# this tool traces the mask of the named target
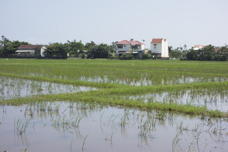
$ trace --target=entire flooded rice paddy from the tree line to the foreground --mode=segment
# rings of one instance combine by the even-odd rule
[[[226,62],[32,59],[0,62],[0,75],[5,76],[0,77],[0,152],[228,151]],[[7,76],[100,89],[89,92],[95,88]],[[142,95],[150,92],[145,91],[147,88],[151,93]],[[70,97],[67,94],[83,91],[87,92]],[[43,94],[55,95],[10,100]],[[139,110],[134,109],[138,105],[135,101],[124,106],[123,97],[130,99],[125,104],[131,100],[166,102],[164,111],[169,111],[169,103],[177,103],[206,106],[225,114],[212,113],[207,117],[207,112],[193,108],[199,110],[196,116],[186,107],[178,111],[178,106],[172,107],[177,113]],[[10,103],[17,106],[7,105]],[[212,118],[216,116],[223,118]]]

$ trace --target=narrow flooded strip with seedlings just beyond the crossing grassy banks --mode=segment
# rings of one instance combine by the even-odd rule
[[[130,86],[150,86],[150,85],[171,85],[171,84],[182,84],[182,83],[192,83],[192,82],[223,82],[228,81],[227,77],[204,77],[204,76],[191,76],[184,75],[180,73],[144,73],[137,72],[120,75],[51,75],[41,74],[41,73],[29,73],[30,76],[40,76],[40,77],[52,77],[55,79],[67,79],[67,80],[80,80],[89,81],[96,83],[114,83],[114,84],[124,84]]]

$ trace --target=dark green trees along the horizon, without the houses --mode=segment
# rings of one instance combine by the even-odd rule
[[[0,40],[0,57],[11,57],[15,54],[20,45],[29,45],[24,41],[11,41],[2,36]],[[116,56],[115,45],[96,44],[93,41],[82,43],[81,41],[67,41],[66,43],[52,43],[47,46],[45,57],[79,57],[79,58],[117,58],[117,59],[155,59],[150,53],[140,52],[138,54],[123,54]],[[170,58],[181,60],[202,60],[202,61],[228,61],[228,46],[215,47],[208,45],[202,49],[169,47]]]

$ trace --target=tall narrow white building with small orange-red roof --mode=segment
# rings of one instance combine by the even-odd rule
[[[152,39],[150,48],[151,48],[151,53],[155,54],[156,56],[159,56],[161,58],[169,57],[168,42],[166,39],[163,39],[163,38]]]

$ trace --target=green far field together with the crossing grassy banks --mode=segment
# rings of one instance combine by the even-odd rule
[[[81,93],[34,95],[0,101],[25,104],[41,101],[83,101],[101,105],[156,109],[189,115],[228,117],[226,112],[176,103],[143,103],[123,96],[182,90],[228,89],[228,62],[155,60],[24,60],[0,59],[0,76],[98,88]],[[83,78],[83,79],[82,79]],[[36,87],[35,87],[36,88]],[[37,88],[42,91],[43,88]],[[158,116],[162,119],[161,116]]]

